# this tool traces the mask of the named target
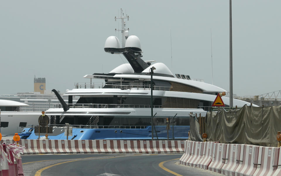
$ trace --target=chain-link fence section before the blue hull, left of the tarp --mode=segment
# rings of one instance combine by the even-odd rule
[[[178,140],[187,139],[189,117],[153,117],[153,139]]]

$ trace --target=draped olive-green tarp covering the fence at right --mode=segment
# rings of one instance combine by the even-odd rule
[[[190,122],[190,139],[198,138],[198,121]],[[281,105],[253,107],[244,105],[240,109],[218,113],[208,112],[205,118],[207,141],[220,143],[254,144],[261,146],[277,146],[276,134],[281,131]],[[194,125],[194,128],[191,127]]]

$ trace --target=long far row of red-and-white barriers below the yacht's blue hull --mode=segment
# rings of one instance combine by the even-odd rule
[[[12,140],[1,140],[12,143]],[[180,153],[184,141],[27,140],[24,154],[38,153]]]

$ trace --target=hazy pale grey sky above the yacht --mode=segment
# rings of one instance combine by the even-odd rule
[[[233,93],[281,89],[281,1],[233,0]],[[140,39],[143,60],[165,63],[229,91],[229,1],[4,1],[0,0],[0,94],[32,92],[33,78],[64,92],[84,75],[128,63],[104,52],[120,8],[129,35]],[[172,31],[172,64],[171,41]],[[120,39],[121,41],[121,39]],[[97,80],[97,82],[101,82]]]

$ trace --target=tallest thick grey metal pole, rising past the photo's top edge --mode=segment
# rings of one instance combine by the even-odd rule
[[[229,0],[229,107],[233,106],[233,80],[232,80],[232,5]]]

